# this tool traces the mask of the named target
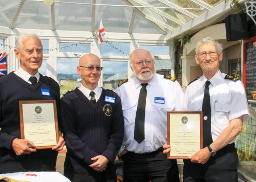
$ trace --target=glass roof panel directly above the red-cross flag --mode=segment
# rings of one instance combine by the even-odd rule
[[[98,4],[126,5],[121,0],[97,0]],[[97,13],[99,12],[99,13]],[[127,33],[131,23],[133,9],[130,7],[96,6],[95,30],[99,30],[100,20],[106,32]]]

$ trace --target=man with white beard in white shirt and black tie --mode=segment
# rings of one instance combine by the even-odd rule
[[[155,73],[155,57],[144,49],[129,56],[135,77],[119,83],[124,139],[119,150],[124,182],[179,182],[176,160],[163,154],[166,143],[167,111],[178,111],[184,97],[180,84],[171,76]]]

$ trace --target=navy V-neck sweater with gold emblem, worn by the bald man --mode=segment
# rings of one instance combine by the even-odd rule
[[[116,98],[115,103],[105,101],[105,96]],[[113,162],[123,142],[123,111],[116,93],[102,90],[93,105],[75,89],[60,101],[61,120],[68,152],[65,169],[76,173],[88,171],[91,158],[103,155]]]

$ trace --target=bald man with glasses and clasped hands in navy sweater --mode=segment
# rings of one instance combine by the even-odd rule
[[[101,61],[94,54],[79,60],[80,88],[61,99],[67,154],[64,176],[72,182],[116,182],[113,162],[123,141],[121,100],[98,86]]]

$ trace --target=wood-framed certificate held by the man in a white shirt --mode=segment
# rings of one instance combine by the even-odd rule
[[[171,146],[168,159],[188,159],[202,149],[202,111],[168,111],[167,144]]]

